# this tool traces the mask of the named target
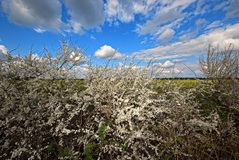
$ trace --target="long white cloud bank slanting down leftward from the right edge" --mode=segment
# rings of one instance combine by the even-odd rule
[[[136,58],[144,60],[150,60],[152,57],[156,60],[182,58],[202,54],[209,44],[213,46],[220,45],[220,47],[225,48],[231,43],[234,44],[234,49],[239,50],[238,30],[239,23],[229,25],[225,29],[215,29],[208,34],[202,34],[187,42],[175,42],[165,46],[141,50],[134,54]]]

